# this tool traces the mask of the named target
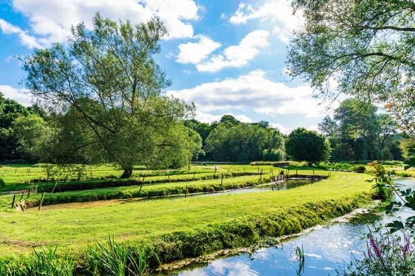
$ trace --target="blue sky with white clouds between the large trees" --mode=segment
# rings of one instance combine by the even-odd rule
[[[194,101],[199,121],[229,114],[288,133],[316,130],[335,108],[286,75],[291,31],[302,23],[301,11],[293,14],[287,0],[0,0],[0,91],[30,105],[16,57],[65,43],[78,23],[92,28],[98,11],[117,21],[156,15],[165,22],[169,36],[155,57],[173,81],[165,93]]]

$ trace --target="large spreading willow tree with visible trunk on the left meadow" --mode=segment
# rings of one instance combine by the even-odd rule
[[[35,50],[23,59],[23,83],[57,112],[71,114],[82,135],[77,149],[93,162],[118,164],[130,177],[133,164],[158,167],[188,162],[198,147],[182,119],[194,105],[166,97],[170,86],[154,61],[167,30],[158,18],[133,25],[99,13],[93,30],[72,28],[64,45]]]

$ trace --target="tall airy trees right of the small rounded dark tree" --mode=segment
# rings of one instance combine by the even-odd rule
[[[403,159],[396,122],[377,110],[356,98],[346,99],[335,109],[333,119],[326,116],[318,124],[329,138],[334,161]]]

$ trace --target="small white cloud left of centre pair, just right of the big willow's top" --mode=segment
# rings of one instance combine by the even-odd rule
[[[176,62],[200,63],[203,59],[207,59],[211,52],[221,47],[221,43],[215,42],[209,37],[205,37],[203,34],[196,35],[194,38],[199,39],[199,42],[188,42],[178,46],[180,52]]]

